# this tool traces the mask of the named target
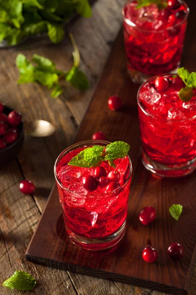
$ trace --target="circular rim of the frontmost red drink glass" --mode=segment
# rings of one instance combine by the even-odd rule
[[[83,147],[85,147],[85,144],[89,144],[89,143],[97,144],[97,145],[98,145],[99,143],[100,143],[100,144],[104,144],[104,145],[108,145],[108,144],[110,144],[110,142],[103,141],[103,140],[86,140],[86,141],[78,142],[78,143],[76,143],[76,144],[73,144],[73,145],[69,146],[68,148],[65,148],[65,149],[60,153],[60,155],[57,157],[57,159],[56,159],[56,161],[55,161],[55,164],[54,164],[54,176],[55,176],[56,182],[60,185],[60,187],[63,188],[64,190],[66,190],[66,191],[68,191],[68,192],[74,194],[74,195],[78,195],[78,196],[82,196],[82,197],[87,197],[87,196],[86,196],[86,195],[79,194],[79,193],[76,193],[76,192],[73,192],[73,191],[69,190],[67,187],[65,187],[65,186],[61,183],[60,179],[58,179],[57,174],[56,174],[56,167],[57,167],[57,164],[59,163],[60,159],[62,159],[62,157],[63,157],[66,153],[72,151],[73,148],[74,148],[74,149],[77,148],[77,147],[79,148],[81,145],[83,145]],[[133,170],[133,168],[132,168],[132,163],[131,163],[131,159],[130,159],[130,157],[129,157],[128,155],[127,155],[127,157],[128,157],[129,164],[130,164],[130,170],[129,170],[129,176],[128,176],[128,178],[126,179],[126,181],[123,183],[123,185],[121,185],[120,187],[118,187],[117,189],[113,190],[113,191],[110,192],[110,193],[103,193],[103,194],[101,194],[101,195],[96,195],[96,196],[91,196],[91,195],[90,195],[89,197],[97,198],[97,197],[102,197],[102,196],[109,196],[109,195],[112,195],[112,194],[114,193],[114,191],[120,191],[120,190],[121,190],[121,189],[122,189],[122,188],[128,183],[128,181],[129,181],[129,179],[130,179],[130,177],[131,177],[131,175],[132,175],[132,170]]]

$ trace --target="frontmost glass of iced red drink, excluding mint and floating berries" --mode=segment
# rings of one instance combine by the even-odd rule
[[[105,193],[106,185],[93,192],[86,190],[82,178],[94,176],[95,168],[69,166],[69,161],[84,148],[106,146],[103,141],[87,141],[64,150],[55,164],[55,177],[66,230],[72,241],[89,250],[102,250],[117,244],[124,235],[132,166],[128,156],[115,160],[120,187]],[[107,161],[100,165],[108,173],[114,168]],[[107,181],[109,182],[109,181]]]

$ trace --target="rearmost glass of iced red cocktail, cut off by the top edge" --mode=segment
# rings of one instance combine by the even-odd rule
[[[123,8],[124,44],[131,79],[143,83],[151,76],[172,73],[182,55],[189,8],[181,0],[163,0],[137,8],[129,0]]]

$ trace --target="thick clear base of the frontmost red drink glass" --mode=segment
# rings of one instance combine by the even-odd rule
[[[74,234],[67,227],[65,228],[72,242],[76,246],[86,250],[100,251],[100,250],[105,250],[117,245],[124,236],[125,226],[126,226],[126,221],[124,221],[121,228],[115,234],[111,236],[102,237],[102,238],[88,238],[84,236],[78,236]]]

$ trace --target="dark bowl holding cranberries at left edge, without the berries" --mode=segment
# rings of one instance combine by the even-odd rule
[[[11,111],[13,111],[12,108],[4,105],[4,114],[8,115]],[[16,159],[19,152],[21,151],[21,148],[23,147],[25,138],[23,122],[17,126],[17,128],[19,129],[19,137],[17,140],[10,146],[0,149],[0,169]]]

